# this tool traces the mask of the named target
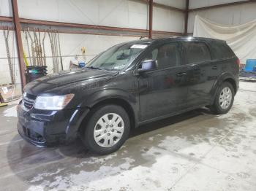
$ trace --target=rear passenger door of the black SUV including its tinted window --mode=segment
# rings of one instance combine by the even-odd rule
[[[206,42],[183,42],[184,57],[188,67],[187,106],[208,104],[211,89],[218,76],[218,66],[211,57]]]

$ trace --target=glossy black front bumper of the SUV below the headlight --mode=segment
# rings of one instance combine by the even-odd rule
[[[78,128],[89,108],[64,109],[60,111],[26,112],[21,104],[17,107],[18,133],[37,147],[51,147],[75,140]]]

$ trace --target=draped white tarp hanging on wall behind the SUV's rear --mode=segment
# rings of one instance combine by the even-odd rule
[[[196,15],[194,36],[225,40],[241,63],[256,58],[256,20],[238,26],[225,26]]]

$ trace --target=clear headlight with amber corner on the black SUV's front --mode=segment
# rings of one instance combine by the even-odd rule
[[[72,100],[74,94],[67,95],[39,95],[34,103],[35,109],[42,110],[61,110],[64,109],[69,101]]]

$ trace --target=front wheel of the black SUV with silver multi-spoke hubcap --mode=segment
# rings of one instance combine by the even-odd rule
[[[81,139],[91,152],[99,155],[110,154],[128,139],[129,116],[121,106],[99,106],[92,111],[88,119]]]

